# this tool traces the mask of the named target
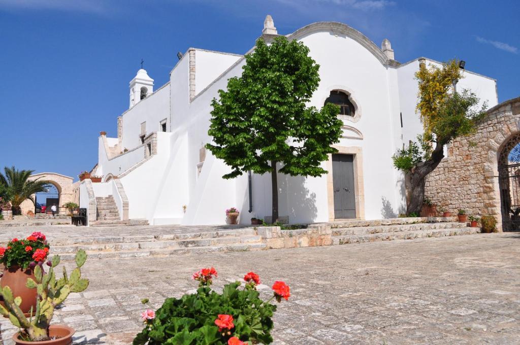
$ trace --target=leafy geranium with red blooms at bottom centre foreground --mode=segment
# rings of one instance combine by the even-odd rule
[[[277,309],[273,299],[288,300],[290,288],[278,281],[272,285],[272,297],[264,301],[256,290],[260,278],[254,272],[244,275],[241,282],[224,286],[222,294],[211,290],[214,268],[204,268],[193,274],[199,281],[197,292],[181,298],[167,298],[157,312],[148,309],[141,314],[145,323],[133,345],[270,344],[274,326],[272,315]],[[142,300],[147,304],[148,300]]]

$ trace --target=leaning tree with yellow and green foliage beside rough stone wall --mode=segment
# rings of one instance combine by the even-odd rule
[[[454,138],[472,134],[486,115],[486,103],[477,107],[479,99],[469,90],[457,92],[454,85],[463,77],[459,62],[451,60],[442,68],[420,64],[415,78],[419,81],[417,112],[424,127],[418,143],[397,150],[394,166],[408,174],[411,193],[407,214],[419,214],[424,200],[426,176],[444,157],[443,147]]]

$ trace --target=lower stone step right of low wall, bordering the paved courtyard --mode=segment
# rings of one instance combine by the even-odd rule
[[[413,240],[414,238],[426,237],[442,237],[442,236],[457,236],[457,235],[472,235],[480,233],[480,228],[448,228],[448,229],[428,229],[415,231],[396,231],[396,232],[381,232],[360,235],[341,235],[332,236],[332,244],[351,244],[351,243],[366,243],[376,241],[393,241],[393,240]]]

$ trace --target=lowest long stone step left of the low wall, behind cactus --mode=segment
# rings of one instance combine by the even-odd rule
[[[165,257],[179,254],[202,254],[223,251],[249,251],[262,250],[266,245],[263,243],[239,243],[219,246],[203,246],[203,247],[180,247],[153,250],[120,250],[120,251],[87,251],[88,258],[107,259],[107,258],[137,258],[137,257]],[[62,260],[74,260],[74,254],[60,255]]]

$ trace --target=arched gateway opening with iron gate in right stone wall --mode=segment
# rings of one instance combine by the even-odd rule
[[[503,231],[520,231],[520,132],[501,145],[498,154]]]

